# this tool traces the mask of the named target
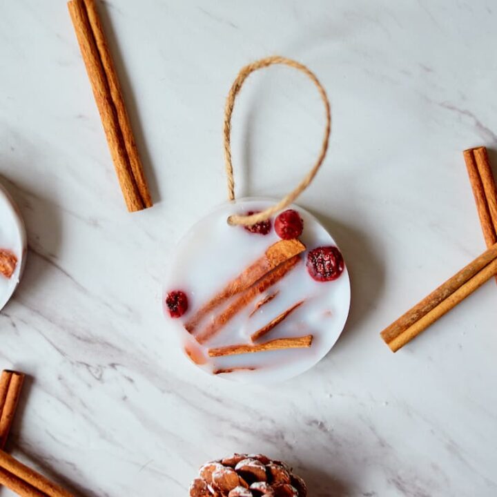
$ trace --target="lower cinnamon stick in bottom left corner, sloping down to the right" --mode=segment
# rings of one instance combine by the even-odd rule
[[[0,483],[26,497],[72,497],[72,494],[53,483],[34,469],[0,451]]]

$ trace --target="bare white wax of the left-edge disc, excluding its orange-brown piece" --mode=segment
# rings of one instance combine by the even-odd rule
[[[10,279],[0,275],[0,310],[10,299],[19,283],[26,252],[24,225],[9,195],[0,185],[0,249],[6,249],[17,257],[17,266]]]

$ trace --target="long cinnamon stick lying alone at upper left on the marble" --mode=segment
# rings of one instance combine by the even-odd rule
[[[128,211],[152,206],[119,79],[93,0],[68,2],[81,55]]]

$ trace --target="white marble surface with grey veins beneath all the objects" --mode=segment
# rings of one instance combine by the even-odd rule
[[[30,247],[0,314],[0,367],[30,376],[12,454],[89,497],[185,496],[202,462],[233,451],[289,460],[311,497],[495,496],[495,283],[396,355],[378,335],[484,249],[461,151],[497,146],[495,3],[101,7],[157,202],[135,215],[65,2],[0,1],[0,175]],[[177,240],[225,198],[231,81],[274,53],[329,91],[329,156],[299,202],[342,246],[352,307],[317,367],[240,388],[177,353],[162,276]],[[234,116],[237,193],[286,193],[322,126],[304,77],[251,77]]]

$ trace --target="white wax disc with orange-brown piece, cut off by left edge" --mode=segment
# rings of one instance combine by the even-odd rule
[[[26,247],[26,230],[19,209],[0,185],[0,311],[19,284]]]

